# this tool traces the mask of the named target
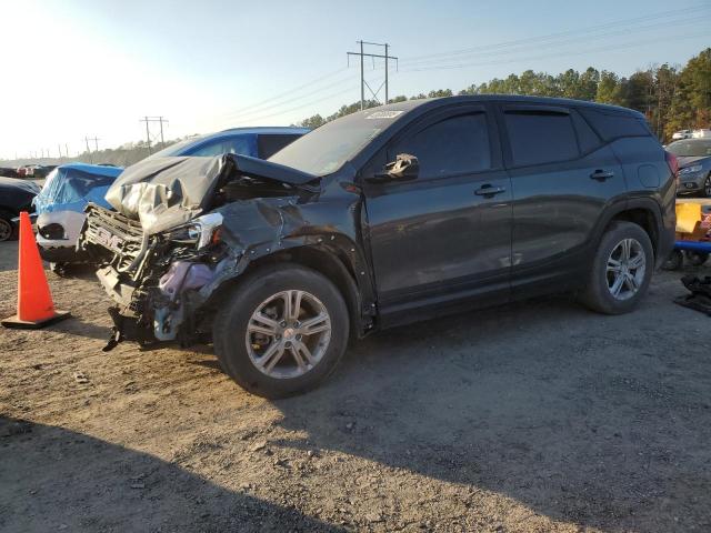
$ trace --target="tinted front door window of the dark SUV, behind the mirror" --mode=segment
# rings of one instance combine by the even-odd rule
[[[398,141],[388,160],[400,153],[418,158],[420,179],[479,172],[491,168],[487,114],[461,114],[440,120]]]

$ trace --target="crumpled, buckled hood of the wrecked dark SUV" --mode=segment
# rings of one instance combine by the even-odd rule
[[[312,174],[248,155],[146,159],[127,168],[106,199],[148,234],[184,224],[210,208],[214,192],[230,179],[248,177],[306,185]]]

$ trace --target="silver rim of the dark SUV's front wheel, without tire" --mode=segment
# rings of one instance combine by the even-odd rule
[[[311,371],[331,341],[326,305],[306,291],[282,291],[252,313],[246,333],[252,364],[274,379],[293,379]]]

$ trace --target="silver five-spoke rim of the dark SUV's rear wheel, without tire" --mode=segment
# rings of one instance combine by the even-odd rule
[[[608,290],[615,300],[629,300],[644,282],[647,255],[637,239],[623,239],[610,253],[607,266]]]

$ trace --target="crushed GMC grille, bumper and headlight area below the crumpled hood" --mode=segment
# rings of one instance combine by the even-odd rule
[[[81,247],[100,265],[97,276],[116,302],[109,310],[114,328],[106,351],[122,340],[143,345],[201,340],[206,332],[197,309],[204,298],[199,291],[233,253],[220,242],[221,221],[219,213],[209,213],[149,235],[139,221],[88,207]],[[237,258],[231,259],[234,264]]]

